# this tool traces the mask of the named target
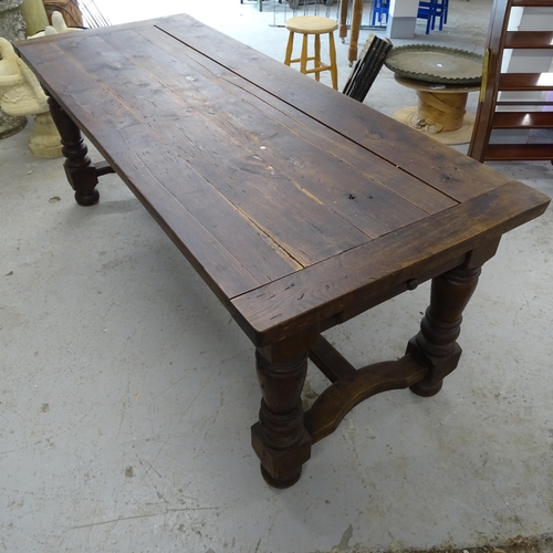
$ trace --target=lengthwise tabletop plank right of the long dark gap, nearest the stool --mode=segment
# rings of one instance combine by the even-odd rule
[[[196,22],[192,18],[189,18],[186,28],[181,21],[174,18],[163,18],[156,22],[156,27],[188,46],[200,51],[198,42],[201,40],[201,34],[200,38],[197,34],[202,33],[204,28],[201,23]],[[186,29],[186,34],[184,29]],[[228,48],[226,48],[227,41],[231,41],[234,46],[232,51],[228,51]],[[481,170],[481,166],[473,159],[461,154],[451,155],[450,147],[436,140],[421,140],[419,132],[400,128],[401,126],[394,125],[396,122],[392,122],[386,115],[374,109],[367,109],[366,105],[352,98],[344,101],[343,94],[328,86],[321,85],[314,80],[294,80],[294,87],[289,90],[284,87],[284,83],[289,73],[295,70],[285,65],[271,65],[269,72],[264,67],[254,66],[252,63],[238,64],[238,60],[248,58],[247,53],[251,59],[267,58],[246,44],[237,45],[232,39],[225,35],[221,35],[218,44],[213,44],[211,48],[211,58],[213,59],[215,54],[217,54],[217,63],[228,71],[252,83],[255,83],[257,76],[259,76],[257,73],[261,72],[263,76],[262,88],[269,94],[281,98],[295,109],[302,111],[322,125],[340,133],[347,140],[358,144],[406,174],[420,179],[457,201],[478,196],[482,191],[508,181],[507,177],[490,169],[487,182],[477,182],[474,177]],[[334,108],[334,106],[343,106],[344,102],[348,103],[347,108],[351,115],[351,117],[347,117],[346,125],[346,122],[341,117],[341,109]],[[380,128],[385,128],[386,133],[383,133]],[[414,155],[414,152],[420,148],[424,148],[420,150],[421,155]],[[435,161],[431,167],[428,167],[427,163],[421,163],[422,159],[429,158]],[[461,182],[465,186],[459,186]]]

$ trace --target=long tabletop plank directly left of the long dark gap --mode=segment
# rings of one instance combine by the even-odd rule
[[[180,61],[182,56],[187,58],[187,63],[196,61],[202,70],[207,67],[211,73],[217,73],[218,82],[216,84],[201,83],[204,91],[209,86],[210,94],[223,88],[220,101],[217,101],[217,97],[211,100],[211,108],[216,109],[218,114],[217,122],[219,124],[222,121],[228,122],[226,126],[229,129],[226,128],[227,132],[238,134],[240,137],[247,134],[250,140],[255,140],[253,146],[258,148],[257,155],[271,164],[271,167],[276,167],[279,164],[280,170],[285,173],[285,176],[292,181],[298,182],[303,178],[304,173],[309,171],[315,178],[305,184],[302,182],[302,186],[309,186],[315,181],[317,188],[316,190],[306,190],[306,192],[316,191],[317,198],[324,204],[332,205],[333,210],[341,217],[356,217],[357,225],[363,225],[363,230],[366,233],[378,236],[389,231],[390,226],[396,226],[399,220],[405,223],[409,219],[424,216],[421,211],[434,212],[455,205],[450,198],[437,194],[435,190],[429,190],[428,187],[421,186],[420,181],[408,175],[403,175],[400,179],[390,178],[393,171],[387,164],[382,164],[382,159],[367,154],[363,148],[347,144],[343,139],[337,140],[336,134],[325,126],[314,129],[313,121],[302,116],[298,111],[283,113],[281,102],[267,93],[263,94],[259,87],[240,80],[240,86],[237,88],[236,77],[232,74],[221,73],[220,66],[215,63],[210,64],[209,61],[189,48],[182,45],[181,51],[178,50],[169,35],[156,33],[155,30],[140,31],[139,34],[150,41],[155,40],[156,48],[152,46],[147,50],[143,48],[140,55],[137,56],[136,51],[139,48],[137,40],[139,38],[127,34],[125,45],[119,46],[119,51],[126,52],[128,62],[136,63],[156,79],[164,80],[168,75],[158,62],[160,55],[169,56],[170,63],[168,65],[171,73],[175,70],[179,71],[184,65]],[[164,46],[164,50],[159,51],[159,46]],[[191,83],[190,90],[196,91],[196,88],[197,85]],[[189,94],[188,90],[180,92],[178,83],[175,83],[173,92],[178,96]],[[252,94],[261,102],[253,104]],[[239,96],[237,102],[233,102],[234,96]],[[190,98],[187,98],[187,103],[190,103]],[[250,104],[253,104],[251,108]],[[275,109],[270,111],[269,106],[271,105]],[[195,104],[195,107],[199,108],[200,106]],[[262,125],[257,128],[255,114],[259,109],[263,109],[264,118]],[[290,116],[291,113],[293,113],[293,118]],[[264,150],[259,149],[263,146],[262,136],[267,136]],[[301,154],[298,149],[299,140],[302,144]],[[272,147],[269,147],[270,145]],[[334,155],[328,156],[328,152],[333,152]],[[363,159],[366,165],[371,166],[371,171],[359,175],[358,169],[355,170],[353,167],[340,163],[340,159],[355,159],[355,167],[358,167]],[[368,164],[368,161],[372,163]],[[279,189],[282,189],[281,184],[279,184]],[[358,200],[368,199],[369,196],[373,196],[371,199],[382,196],[384,201],[393,202],[396,209],[387,220],[373,221],[373,218],[378,216],[374,213],[371,202],[366,201],[366,205],[359,206],[358,201],[347,201],[349,196],[356,196]],[[414,206],[417,206],[418,209],[414,209]],[[327,217],[328,215],[325,216],[325,219]],[[363,219],[358,220],[359,217]],[[331,226],[336,225],[335,221],[328,222]]]

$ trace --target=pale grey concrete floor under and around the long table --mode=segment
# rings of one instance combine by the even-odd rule
[[[104,12],[188,11],[282,59],[271,6]],[[479,51],[490,8],[451,0],[447,28],[420,23],[415,40]],[[366,104],[390,115],[414,100],[383,70]],[[117,177],[79,207],[61,161],[30,154],[30,127],[0,140],[0,551],[507,551],[523,538],[553,551],[551,209],[486,265],[444,390],[362,404],[279,491],[250,448],[248,338]],[[493,166],[553,196],[551,164]],[[420,286],[327,337],[357,366],[400,356],[427,301]],[[305,401],[324,385],[310,371]]]

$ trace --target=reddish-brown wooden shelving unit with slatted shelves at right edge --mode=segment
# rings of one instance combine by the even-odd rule
[[[509,31],[513,8],[551,8],[553,0],[495,0],[491,14],[488,46],[484,56],[482,90],[468,155],[479,161],[546,159],[553,161],[553,132],[549,144],[490,144],[493,129],[553,129],[551,98],[502,100],[502,92],[553,91],[553,73],[505,73],[502,61],[505,50],[552,50],[551,31]],[[543,96],[543,95],[540,95]],[[509,109],[509,111],[502,111]]]

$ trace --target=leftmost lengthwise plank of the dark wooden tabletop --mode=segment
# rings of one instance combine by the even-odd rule
[[[49,71],[53,71],[53,64],[46,64],[45,66]],[[116,67],[116,65],[114,66]],[[106,124],[105,136],[96,131],[96,137],[100,138],[100,142],[96,142],[96,144],[98,147],[102,146],[101,152],[104,150],[106,158],[109,158],[109,156],[117,157],[117,161],[114,160],[112,166],[118,165],[121,174],[124,178],[129,180],[129,186],[136,188],[135,194],[139,195],[142,189],[144,189],[145,194],[152,194],[152,191],[146,192],[146,190],[158,189],[160,209],[164,211],[168,209],[167,201],[163,199],[165,197],[171,198],[173,200],[180,199],[184,210],[189,212],[194,211],[194,219],[190,221],[190,225],[200,225],[201,228],[197,230],[184,230],[182,236],[186,237],[187,243],[185,244],[180,237],[175,237],[177,246],[179,246],[179,248],[189,247],[191,243],[190,236],[200,232],[206,234],[208,243],[213,242],[213,239],[220,242],[238,261],[240,265],[239,272],[243,273],[243,282],[236,280],[238,276],[236,271],[228,272],[226,270],[227,267],[229,267],[229,262],[221,264],[222,258],[220,258],[220,253],[216,253],[216,249],[204,249],[205,253],[208,255],[213,253],[215,259],[212,261],[202,260],[201,265],[205,268],[209,268],[212,264],[215,265],[213,275],[218,279],[222,279],[220,288],[222,288],[225,296],[234,295],[239,292],[240,288],[251,288],[251,276],[254,279],[253,282],[257,281],[258,283],[262,283],[267,282],[270,278],[274,278],[278,273],[284,275],[301,267],[294,259],[285,254],[284,250],[269,236],[260,232],[260,229],[252,223],[248,217],[240,216],[243,219],[244,228],[237,233],[234,217],[237,209],[212,187],[202,188],[205,179],[198,175],[196,168],[192,169],[189,166],[189,163],[182,164],[182,154],[175,150],[175,148],[178,148],[178,144],[171,140],[169,140],[169,144],[164,143],[164,140],[159,139],[158,134],[150,131],[150,125],[140,124],[136,116],[137,108],[133,107],[132,112],[125,109],[124,103],[117,98],[113,90],[109,91],[109,94],[107,91],[103,90],[101,97],[94,104],[94,83],[90,79],[84,79],[84,76],[82,77],[82,82],[84,83],[82,87],[85,88],[86,92],[77,93],[76,91],[72,91],[72,96],[74,98],[83,98],[82,103],[84,106],[72,105],[71,108],[74,112],[77,112],[77,109],[85,112],[86,117],[84,117],[84,121],[88,129],[94,128],[96,126],[94,122],[102,117],[109,118],[109,123]],[[129,94],[132,94],[131,83],[126,82],[126,84],[129,87]],[[122,86],[121,90],[117,88],[117,92],[123,92],[123,90],[124,86]],[[131,116],[129,113],[132,114]],[[160,116],[160,118],[163,117]],[[163,121],[160,124],[163,125]],[[177,121],[175,125],[180,126],[180,122]],[[118,132],[116,132],[113,126],[117,127]],[[143,132],[146,134],[143,135]],[[197,131],[197,133],[199,132]],[[202,136],[204,131],[199,133],[199,135]],[[174,148],[170,144],[177,144],[177,146]],[[204,157],[205,149],[201,152],[201,144],[194,149]],[[157,157],[159,161],[157,165],[150,165],[146,169],[148,174],[145,174],[144,163],[142,163],[140,159],[145,158],[147,152],[149,153],[148,155]],[[196,153],[192,152],[190,156],[192,160],[195,160]],[[220,163],[223,161],[221,160]],[[226,163],[228,163],[228,159]],[[217,167],[215,167],[215,169]],[[244,171],[244,174],[247,178],[251,178],[250,171]],[[226,175],[221,175],[221,177],[223,180],[227,180]],[[240,190],[242,190],[243,186],[243,180],[241,180]],[[164,189],[167,189],[168,194]],[[155,198],[156,196],[149,201],[152,207],[155,205],[153,201]],[[177,209],[176,205],[171,207],[173,209]],[[317,215],[316,211],[315,215]],[[202,219],[198,221],[200,216]],[[166,217],[167,216],[164,216],[164,219],[166,219]],[[171,225],[171,229],[185,229],[186,227],[182,226],[185,220],[181,220],[178,226]],[[341,222],[342,220],[337,221],[336,227],[338,227]],[[307,227],[307,230],[311,229],[313,229],[313,231],[316,230],[313,225]],[[347,239],[349,240],[349,238]],[[363,236],[363,239],[366,240],[366,236]],[[249,257],[250,252],[254,249],[260,252],[264,249],[265,253],[261,254],[254,264],[250,263],[249,267],[244,269],[248,265],[244,258]],[[191,258],[196,258],[196,255],[197,252],[194,252]],[[191,258],[189,257],[189,259]],[[237,264],[237,262],[231,262],[230,265],[232,264]],[[250,276],[249,273],[253,274]]]

